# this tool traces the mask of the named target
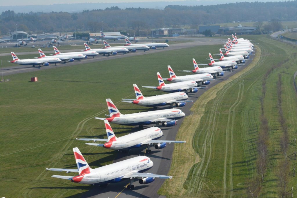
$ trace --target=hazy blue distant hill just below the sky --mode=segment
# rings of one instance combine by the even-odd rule
[[[258,1],[267,2],[268,0]],[[38,3],[38,1],[36,1]],[[63,2],[63,1],[62,1]],[[200,0],[200,1],[156,1],[154,3],[148,2],[133,2],[133,3],[78,3],[78,4],[52,4],[52,5],[26,5],[26,6],[0,6],[0,13],[6,10],[13,10],[15,13],[29,13],[29,12],[82,12],[83,10],[105,9],[107,7],[117,6],[121,9],[134,8],[152,8],[164,9],[168,5],[217,5],[225,3],[244,2],[244,0]],[[248,1],[252,2],[252,1]]]

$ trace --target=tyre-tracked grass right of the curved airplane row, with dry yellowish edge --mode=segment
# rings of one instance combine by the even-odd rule
[[[168,197],[239,197],[246,194],[246,180],[257,174],[255,160],[262,78],[269,68],[289,58],[292,66],[288,70],[281,65],[268,76],[264,101],[265,116],[270,127],[270,144],[267,172],[260,196],[278,197],[277,166],[283,155],[279,148],[281,130],[276,86],[278,74],[281,73],[282,79],[285,79],[283,98],[288,96],[282,108],[287,125],[290,126],[289,139],[293,140],[297,121],[296,111],[292,111],[297,107],[293,87],[296,56],[289,45],[264,37],[257,38],[260,38],[257,40],[257,56],[247,67],[249,71],[243,70],[211,88],[192,107],[193,117],[184,120],[177,135],[177,138],[184,137],[186,132],[189,139],[193,137],[192,141],[189,140],[192,144],[187,144],[187,148],[175,146],[169,175],[179,179],[166,181],[159,191],[161,194]],[[193,122],[197,123],[192,125]],[[289,148],[291,153],[295,149],[293,145]],[[294,166],[296,162],[291,160],[290,169]],[[180,175],[187,177],[180,178]],[[289,181],[288,186],[296,189],[296,179],[290,177]]]

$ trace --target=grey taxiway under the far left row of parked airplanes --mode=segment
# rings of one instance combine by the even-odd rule
[[[187,38],[188,39],[188,38]],[[219,39],[209,39],[209,38],[194,38],[193,42],[185,42],[185,43],[177,43],[170,45],[169,47],[165,47],[164,50],[178,50],[182,48],[187,48],[187,47],[195,47],[199,45],[217,45],[217,44],[222,44],[222,42]],[[61,50],[61,52],[72,52],[72,51],[77,51],[77,50]],[[50,65],[50,66],[41,66],[40,68],[38,67],[32,67],[28,65],[17,65],[17,64],[12,64],[12,66],[7,66],[3,67],[1,69],[1,75],[7,76],[7,75],[13,75],[13,74],[18,74],[18,73],[24,73],[24,72],[33,72],[33,71],[41,71],[44,69],[51,69],[51,68],[56,68],[56,67],[64,67],[64,66],[72,66],[72,65],[77,65],[77,64],[86,64],[86,63],[91,63],[91,62],[97,62],[97,61],[105,61],[105,60],[110,60],[110,59],[116,59],[116,58],[123,58],[123,57],[130,57],[130,56],[138,56],[138,55],[143,55],[143,54],[150,54],[150,53],[157,53],[163,51],[163,48],[157,48],[156,50],[149,50],[146,52],[130,52],[127,54],[118,54],[118,55],[111,55],[109,57],[107,56],[95,56],[94,58],[89,57],[87,59],[82,59],[82,61],[75,61],[71,63],[66,63],[66,64],[57,64],[55,65]],[[18,54],[36,54],[36,52],[22,52]],[[53,53],[53,51],[44,51],[44,53]],[[11,55],[10,53],[8,53]],[[3,56],[5,54],[2,54]]]

